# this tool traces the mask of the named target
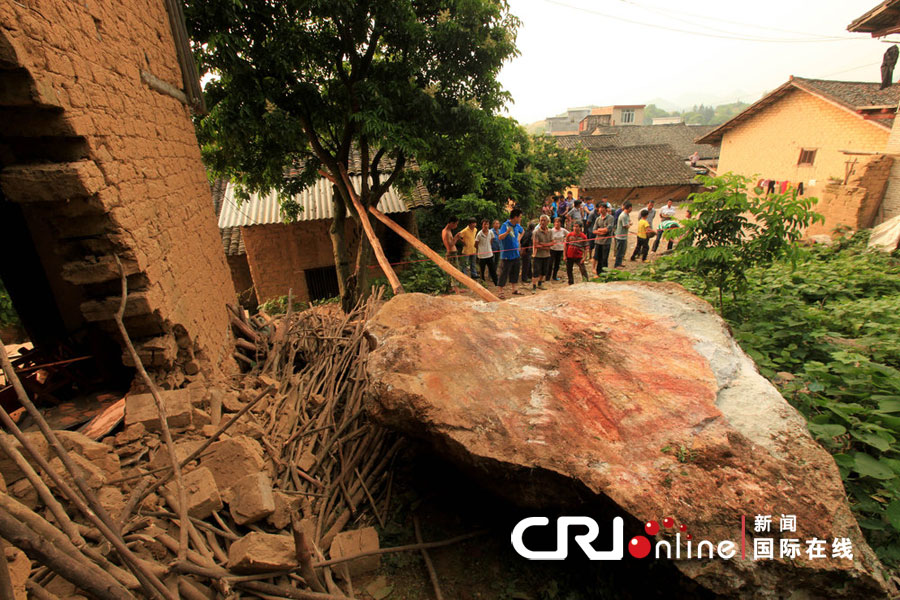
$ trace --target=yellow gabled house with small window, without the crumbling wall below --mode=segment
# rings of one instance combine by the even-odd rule
[[[804,187],[843,180],[853,154],[883,152],[887,144],[900,85],[879,87],[792,77],[696,141],[721,146],[719,173]]]

